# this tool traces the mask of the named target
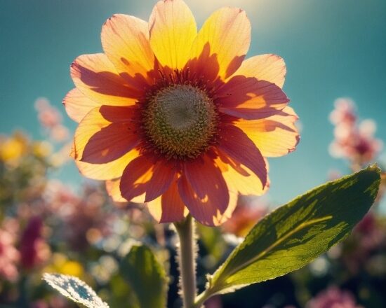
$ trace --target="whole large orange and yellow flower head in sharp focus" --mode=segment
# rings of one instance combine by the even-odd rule
[[[239,193],[265,193],[265,157],[295,149],[297,116],[281,90],[284,60],[244,61],[244,10],[220,8],[197,32],[184,1],[164,0],[149,22],[113,15],[101,38],[105,53],[72,63],[64,99],[84,176],[107,181],[114,200],[147,202],[159,222],[189,211],[219,225]]]

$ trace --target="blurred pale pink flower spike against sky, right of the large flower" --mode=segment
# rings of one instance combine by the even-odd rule
[[[333,157],[350,160],[354,169],[371,162],[382,149],[382,141],[373,137],[375,122],[363,120],[358,125],[352,100],[337,99],[330,120],[335,125],[330,153]]]

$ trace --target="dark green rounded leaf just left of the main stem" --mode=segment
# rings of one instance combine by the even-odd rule
[[[164,267],[147,246],[133,246],[121,263],[121,274],[141,308],[166,307],[168,283]]]

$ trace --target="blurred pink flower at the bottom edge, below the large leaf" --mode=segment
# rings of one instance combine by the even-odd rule
[[[307,302],[306,308],[361,308],[347,290],[331,286]]]

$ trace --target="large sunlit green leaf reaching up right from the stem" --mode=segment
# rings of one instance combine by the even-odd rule
[[[373,204],[379,184],[380,169],[368,167],[273,211],[208,276],[198,302],[307,265],[349,234]]]

